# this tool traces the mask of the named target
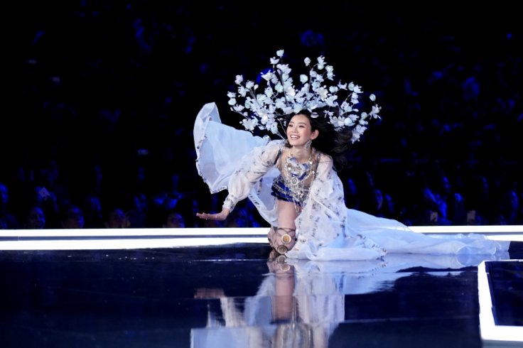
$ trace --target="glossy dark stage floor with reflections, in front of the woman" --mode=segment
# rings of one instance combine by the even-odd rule
[[[0,347],[520,347],[482,341],[478,266],[495,325],[522,327],[521,244],[345,262],[265,243],[3,250]]]

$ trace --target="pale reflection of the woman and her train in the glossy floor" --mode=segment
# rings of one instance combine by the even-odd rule
[[[459,271],[496,259],[389,254],[380,260],[309,261],[272,256],[257,294],[243,302],[222,290],[198,291],[198,298],[220,298],[220,312],[210,312],[207,327],[191,331],[192,347],[328,347],[330,335],[345,321],[345,295],[388,291],[411,274],[403,271],[409,268]],[[223,321],[212,319],[216,317]]]

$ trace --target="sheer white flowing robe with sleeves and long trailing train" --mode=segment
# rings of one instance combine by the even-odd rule
[[[248,197],[266,222],[277,226],[271,185],[279,175],[275,163],[283,141],[222,124],[215,103],[205,104],[198,113],[194,141],[196,167],[210,192],[228,190],[223,206],[232,210]],[[387,253],[493,255],[509,248],[509,241],[492,241],[479,234],[428,236],[397,220],[347,209],[343,184],[326,155],[320,158],[295,222],[298,241],[286,254],[290,259],[356,261]]]

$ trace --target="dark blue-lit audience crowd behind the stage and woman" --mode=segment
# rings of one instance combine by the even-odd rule
[[[241,127],[234,76],[254,78],[279,49],[296,70],[324,55],[382,105],[340,173],[347,207],[408,225],[523,224],[515,12],[320,5],[35,4],[14,34],[0,229],[268,226],[248,200],[225,222],[195,219],[227,192],[198,176],[192,131],[207,102]]]

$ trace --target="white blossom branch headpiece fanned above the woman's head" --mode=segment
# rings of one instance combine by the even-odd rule
[[[271,131],[281,136],[279,125],[283,125],[284,116],[293,112],[308,109],[313,117],[326,117],[336,130],[348,127],[352,130],[352,143],[357,141],[367,129],[368,119],[379,118],[379,107],[375,101],[376,96],[370,94],[374,103],[370,112],[360,112],[357,104],[362,93],[360,86],[353,82],[334,84],[334,68],[326,65],[325,58],[320,55],[317,63],[310,67],[311,60],[305,58],[306,67],[310,67],[308,75],[300,75],[301,87],[296,88],[292,77],[291,68],[281,62],[284,50],[276,52],[277,57],[271,58],[273,70],[261,73],[266,81],[261,93],[256,93],[259,85],[247,80],[243,83],[243,76],[237,75],[234,81],[238,85],[237,92],[228,92],[231,110],[244,116],[240,122],[248,131],[257,127],[261,130]],[[339,102],[338,93],[346,94],[343,102]],[[237,99],[243,100],[241,104]],[[322,114],[314,112],[315,109],[325,107]],[[281,136],[284,138],[284,136]]]

